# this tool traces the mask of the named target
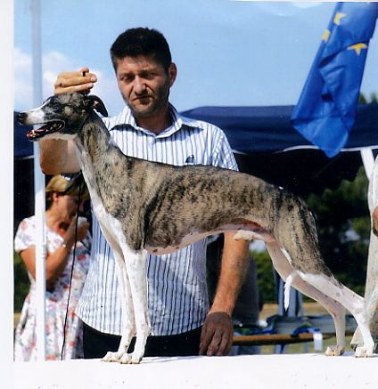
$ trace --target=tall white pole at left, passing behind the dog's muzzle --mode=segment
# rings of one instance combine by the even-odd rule
[[[32,0],[33,106],[42,102],[41,5]],[[45,361],[45,176],[39,167],[39,147],[33,142],[36,215],[37,361]]]

